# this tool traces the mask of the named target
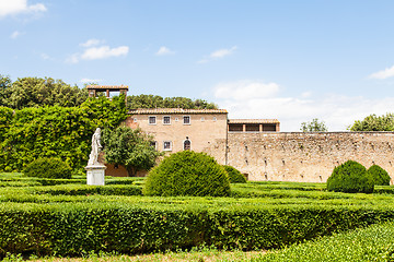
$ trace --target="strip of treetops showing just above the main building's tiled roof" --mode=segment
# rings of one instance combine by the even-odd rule
[[[157,95],[132,95],[127,97],[127,108],[185,108],[217,109],[217,105],[202,99],[193,100],[186,97],[161,97]]]

